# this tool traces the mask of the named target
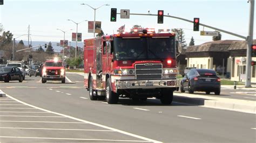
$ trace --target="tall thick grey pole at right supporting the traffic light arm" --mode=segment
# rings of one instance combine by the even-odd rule
[[[248,0],[250,3],[250,20],[249,20],[249,31],[247,41],[247,52],[246,52],[246,79],[245,79],[245,87],[251,87],[251,62],[252,62],[252,42],[253,42],[253,17],[254,17],[254,0]]]

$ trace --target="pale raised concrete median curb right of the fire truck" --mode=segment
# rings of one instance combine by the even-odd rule
[[[219,97],[203,97],[198,95],[177,95],[175,93],[173,102],[185,103],[190,105],[199,105],[206,108],[215,108],[223,110],[231,110],[245,113],[256,114],[256,102],[245,101],[240,99],[221,99]]]

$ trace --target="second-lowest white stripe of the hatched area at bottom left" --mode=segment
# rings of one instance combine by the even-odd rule
[[[65,131],[100,131],[100,132],[114,132],[112,130],[89,130],[89,129],[72,129],[72,128],[33,128],[33,127],[0,127],[11,129],[28,129],[28,130],[65,130]]]

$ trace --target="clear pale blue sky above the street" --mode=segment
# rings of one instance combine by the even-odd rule
[[[187,44],[192,36],[196,45],[212,41],[212,37],[200,36],[200,32],[194,32],[192,23],[173,18],[164,17],[164,24],[157,24],[156,16],[131,15],[130,19],[120,19],[120,15],[117,15],[117,22],[110,22],[111,8],[117,8],[118,12],[120,9],[129,9],[130,13],[147,13],[150,10],[151,14],[157,14],[157,10],[164,10],[165,15],[169,13],[171,16],[190,20],[199,17],[200,23],[244,36],[248,34],[250,4],[247,0],[4,0],[4,5],[0,5],[0,23],[3,24],[5,31],[9,30],[14,34],[14,38],[28,34],[30,25],[32,41],[59,41],[63,39],[63,32],[56,28],[63,31],[72,28],[73,31],[66,32],[66,39],[70,41],[71,32],[76,32],[76,24],[67,19],[72,19],[77,23],[94,19],[94,10],[89,6],[80,5],[81,3],[89,4],[93,8],[110,4],[110,6],[102,6],[96,10],[96,21],[102,22],[102,30],[105,34],[112,34],[113,31],[116,33],[118,27],[124,24],[126,28],[137,24],[157,29],[183,28]],[[256,39],[255,25],[254,23],[254,39]],[[203,30],[202,26],[200,30]],[[204,28],[204,30],[213,31],[209,28]],[[87,33],[87,22],[78,25],[78,32],[82,32],[82,39],[93,37],[93,33]],[[232,35],[221,34],[223,40],[242,40]],[[28,40],[28,37],[22,36],[17,40]]]

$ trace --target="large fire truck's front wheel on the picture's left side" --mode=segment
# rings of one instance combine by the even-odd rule
[[[106,102],[109,104],[117,104],[119,96],[112,91],[111,80],[107,78],[106,81]]]

